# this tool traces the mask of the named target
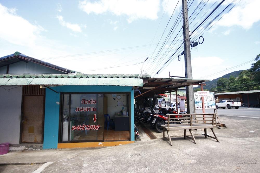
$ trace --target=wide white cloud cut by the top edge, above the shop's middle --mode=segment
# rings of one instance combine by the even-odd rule
[[[116,16],[127,15],[128,23],[136,19],[152,19],[158,18],[157,13],[160,10],[159,0],[100,0],[90,2],[88,0],[80,1],[79,8],[86,13],[103,14],[111,12]]]

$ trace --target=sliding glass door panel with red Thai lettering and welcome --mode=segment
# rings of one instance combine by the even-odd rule
[[[104,95],[62,94],[61,142],[103,141]]]

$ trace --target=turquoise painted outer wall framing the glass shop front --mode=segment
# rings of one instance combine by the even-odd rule
[[[58,86],[46,88],[43,149],[57,148],[59,138],[59,112],[61,92],[131,92],[131,141],[134,141],[134,90],[131,86]]]

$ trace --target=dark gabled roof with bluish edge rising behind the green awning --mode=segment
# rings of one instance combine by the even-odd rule
[[[73,70],[69,70],[67,68],[63,68],[63,67],[51,64],[51,63],[47,63],[47,62],[39,60],[39,59],[28,57],[28,56],[26,56],[26,55],[24,55],[20,52],[15,52],[13,54],[1,57],[0,58],[0,67],[6,66],[6,65],[9,65],[9,64],[14,64],[14,63],[17,63],[19,61],[31,61],[31,62],[41,64],[41,65],[53,68],[55,70],[65,72],[65,73],[75,73],[75,71],[73,71]]]

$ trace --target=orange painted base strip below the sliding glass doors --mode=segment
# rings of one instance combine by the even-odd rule
[[[58,148],[110,147],[134,143],[134,141],[58,143]]]

